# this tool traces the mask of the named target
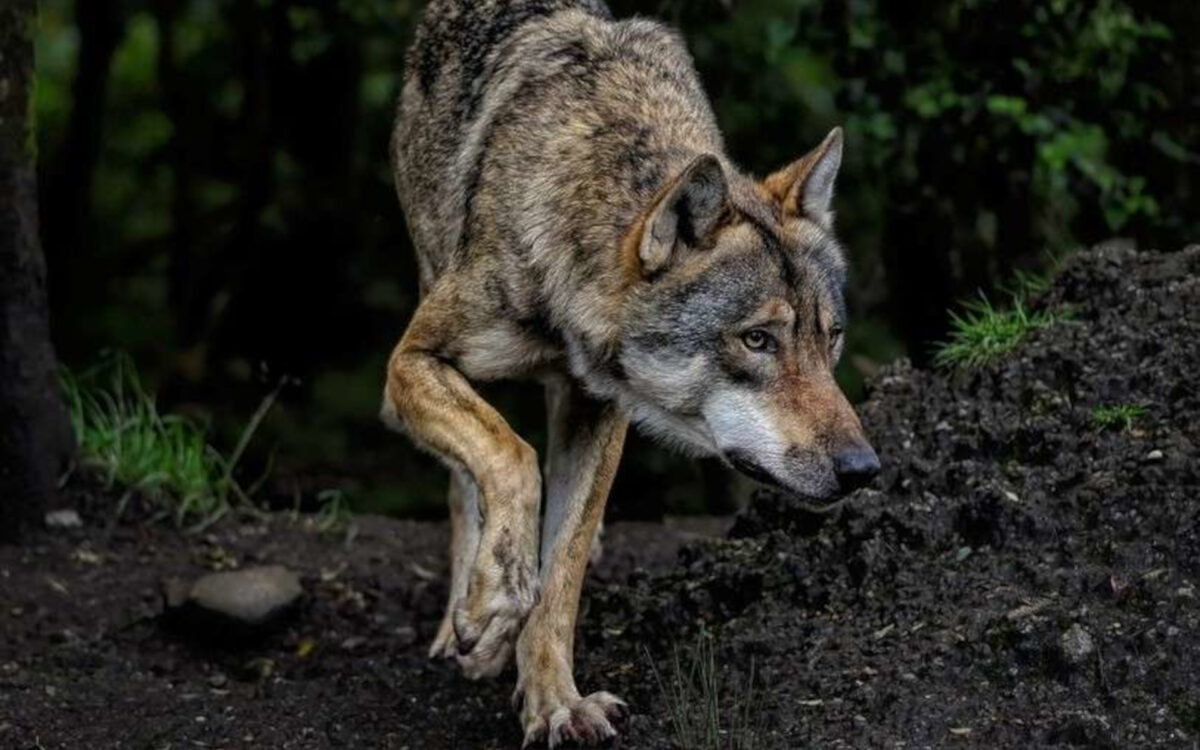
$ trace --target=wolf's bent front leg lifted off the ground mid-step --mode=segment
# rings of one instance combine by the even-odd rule
[[[458,662],[476,679],[504,670],[538,598],[541,473],[529,444],[439,355],[455,329],[443,310],[437,298],[426,299],[392,353],[384,418],[474,486],[482,528],[451,617]]]

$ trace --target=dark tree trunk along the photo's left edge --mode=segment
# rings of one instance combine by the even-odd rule
[[[0,8],[0,541],[42,522],[73,448],[37,236],[36,18],[36,0],[6,0]]]

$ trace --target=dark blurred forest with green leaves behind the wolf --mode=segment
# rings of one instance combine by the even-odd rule
[[[660,0],[732,156],[764,174],[846,127],[839,378],[919,364],[956,300],[1111,235],[1200,238],[1200,4]],[[43,0],[36,95],[55,343],[132,354],[264,497],[443,512],[434,462],[376,421],[416,302],[386,144],[416,0]],[[540,389],[490,386],[536,445]],[[634,439],[617,512],[722,510],[724,469]]]

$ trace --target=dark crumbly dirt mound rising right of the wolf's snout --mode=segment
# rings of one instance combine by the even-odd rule
[[[1200,246],[1081,253],[1037,307],[1068,320],[1003,362],[877,379],[877,490],[761,494],[595,626],[713,623],[768,746],[1194,748]]]

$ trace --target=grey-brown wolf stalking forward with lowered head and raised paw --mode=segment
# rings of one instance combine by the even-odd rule
[[[600,743],[625,704],[580,692],[574,630],[629,424],[815,500],[878,470],[832,376],[842,133],[755,179],[679,34],[600,0],[432,0],[397,109],[421,301],[382,416],[450,470],[430,654],[515,655],[526,745]],[[500,378],[545,384],[544,468],[472,386]]]

